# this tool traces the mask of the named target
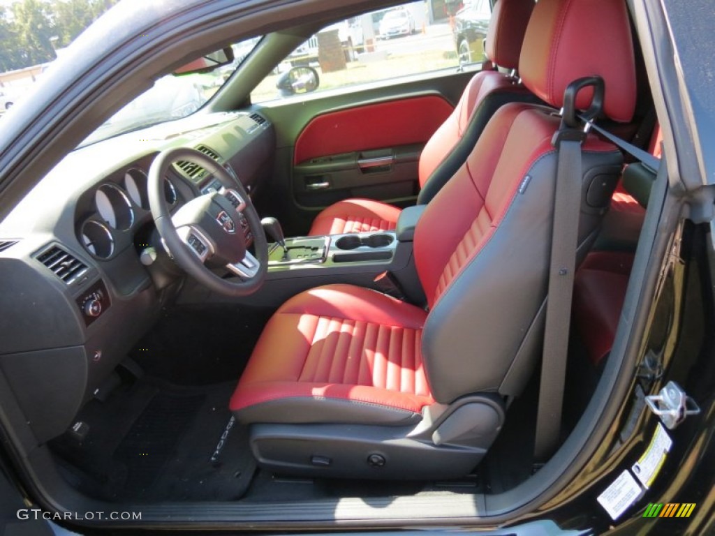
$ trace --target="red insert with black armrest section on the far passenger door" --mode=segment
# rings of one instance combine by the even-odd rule
[[[426,95],[315,117],[295,142],[295,201],[325,207],[347,197],[413,196],[420,152],[452,110]]]

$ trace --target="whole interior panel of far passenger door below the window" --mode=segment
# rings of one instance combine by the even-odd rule
[[[420,152],[473,74],[441,71],[255,106],[275,127],[277,143],[271,198],[259,208],[297,235],[340,199],[413,204]]]

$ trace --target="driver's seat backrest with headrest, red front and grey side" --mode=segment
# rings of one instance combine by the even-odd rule
[[[622,0],[539,0],[519,66],[525,86],[553,108],[502,106],[420,218],[415,263],[430,307],[422,352],[438,402],[477,392],[516,395],[531,374],[548,292],[555,109],[571,81],[598,75],[606,86],[605,114],[629,121],[636,95],[631,39]],[[577,107],[586,109],[591,96],[582,93]],[[579,223],[584,249],[621,165],[617,147],[588,135]]]

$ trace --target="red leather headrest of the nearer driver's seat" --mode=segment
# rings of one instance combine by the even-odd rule
[[[636,106],[636,66],[625,0],[539,0],[519,58],[519,74],[533,94],[556,108],[572,81],[598,75],[606,85],[603,113],[628,122]],[[592,91],[581,91],[586,109]]]

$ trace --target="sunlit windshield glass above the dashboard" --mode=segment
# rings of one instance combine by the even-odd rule
[[[234,52],[234,61],[214,71],[162,76],[151,88],[100,125],[82,142],[82,146],[193,114],[214,96],[246,56],[252,52],[260,39],[260,37],[252,37],[233,44],[231,48]]]

